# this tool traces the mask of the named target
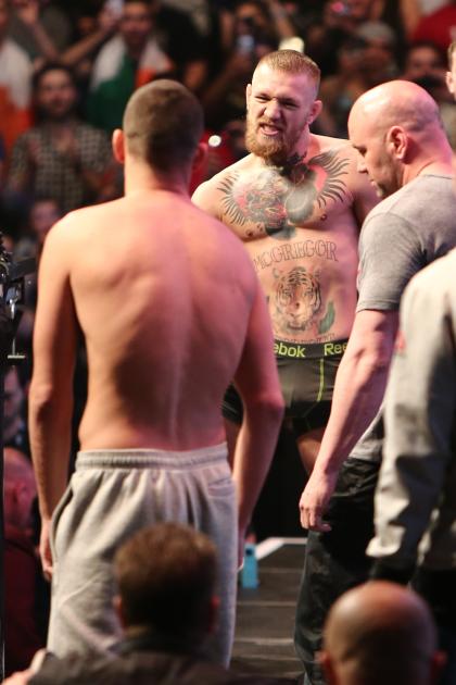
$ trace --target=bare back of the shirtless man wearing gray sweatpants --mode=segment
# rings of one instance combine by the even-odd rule
[[[81,449],[223,441],[257,288],[238,240],[168,191],[81,210],[54,233],[87,341]]]

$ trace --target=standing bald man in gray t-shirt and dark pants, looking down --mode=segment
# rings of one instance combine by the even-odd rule
[[[383,84],[355,102],[349,132],[358,170],[383,201],[363,225],[356,316],[321,448],[300,502],[302,524],[311,533],[296,648],[317,684],[324,682],[314,662],[326,613],[370,569],[365,550],[373,535],[382,454],[380,407],[401,296],[416,272],[456,245],[452,150],[434,100],[409,82]]]

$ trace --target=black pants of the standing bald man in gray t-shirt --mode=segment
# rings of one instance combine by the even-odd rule
[[[331,605],[369,576],[366,547],[373,537],[373,494],[380,464],[349,459],[325,519],[329,533],[309,532],[296,607],[294,645],[312,685],[325,678],[316,652]]]

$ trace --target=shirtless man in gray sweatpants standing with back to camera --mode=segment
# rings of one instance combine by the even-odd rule
[[[202,132],[201,104],[177,82],[138,89],[113,136],[125,198],[69,214],[42,251],[29,427],[58,656],[113,647],[116,547],[138,527],[178,521],[217,546],[220,619],[208,648],[229,660],[237,562],[283,411],[249,256],[188,196]],[[68,483],[79,328],[88,401]],[[232,377],[245,419],[231,473],[220,404]]]

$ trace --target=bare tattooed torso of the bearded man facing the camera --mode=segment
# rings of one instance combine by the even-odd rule
[[[251,154],[193,196],[244,241],[275,337],[301,345],[349,337],[357,212],[363,216],[375,201],[345,141],[312,135],[306,160],[280,170]]]

